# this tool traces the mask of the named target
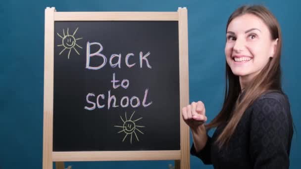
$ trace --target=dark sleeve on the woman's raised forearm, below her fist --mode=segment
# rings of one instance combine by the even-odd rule
[[[209,135],[207,135],[207,137],[208,137],[207,142],[206,142],[204,148],[201,149],[201,151],[199,151],[199,152],[196,151],[194,143],[192,144],[191,149],[190,149],[190,154],[201,159],[201,161],[205,165],[212,164],[212,162],[211,162],[212,138]]]

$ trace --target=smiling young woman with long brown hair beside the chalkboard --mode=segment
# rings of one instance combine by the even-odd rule
[[[288,169],[293,121],[281,89],[281,31],[261,5],[234,11],[226,28],[226,91],[208,124],[205,106],[182,109],[191,128],[191,154],[214,169]],[[229,83],[229,84],[228,84]],[[216,127],[212,137],[207,131]]]

